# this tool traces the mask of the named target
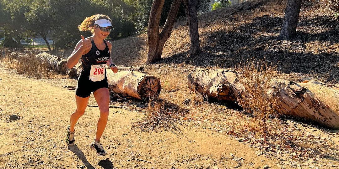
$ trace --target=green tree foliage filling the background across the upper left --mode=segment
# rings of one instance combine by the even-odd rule
[[[173,0],[165,0],[161,24]],[[81,32],[78,25],[89,16],[105,14],[112,19],[110,39],[144,32],[153,0],[0,0],[0,38],[3,45],[18,47],[20,40],[41,35],[52,39],[57,49],[74,47]],[[198,0],[198,11],[206,11],[210,0]],[[178,18],[185,17],[183,3]],[[48,37],[48,38],[47,38]]]

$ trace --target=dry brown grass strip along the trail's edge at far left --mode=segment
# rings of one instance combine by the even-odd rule
[[[47,63],[40,61],[32,54],[11,54],[7,55],[5,62],[8,67],[15,69],[18,73],[24,73],[28,76],[51,78],[51,71],[47,69]]]

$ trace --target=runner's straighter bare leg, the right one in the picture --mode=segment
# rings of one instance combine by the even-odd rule
[[[98,103],[100,110],[100,118],[97,124],[97,133],[95,135],[95,141],[100,141],[102,133],[104,132],[108,120],[109,114],[109,91],[107,88],[100,88],[94,93],[94,98]]]

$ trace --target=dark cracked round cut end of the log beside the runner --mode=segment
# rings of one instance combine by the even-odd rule
[[[138,86],[138,93],[141,98],[157,98],[160,94],[160,79],[154,76],[146,76]]]

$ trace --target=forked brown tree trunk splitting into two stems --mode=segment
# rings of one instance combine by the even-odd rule
[[[171,35],[181,0],[173,0],[165,25],[161,33],[159,33],[160,16],[164,2],[165,0],[154,0],[152,3],[147,28],[148,54],[146,64],[151,64],[161,59],[162,49]]]

